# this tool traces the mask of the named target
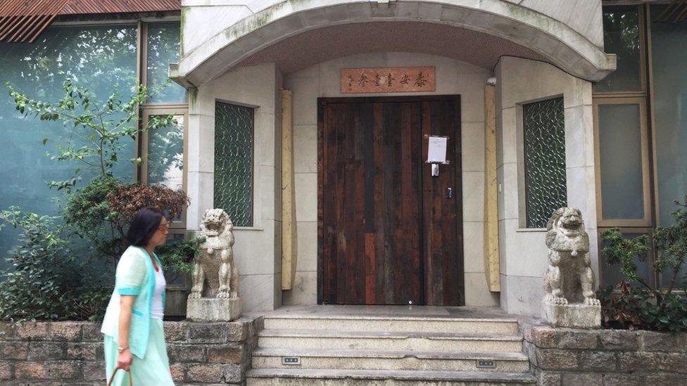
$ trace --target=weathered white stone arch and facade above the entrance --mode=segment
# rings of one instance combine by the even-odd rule
[[[615,68],[603,52],[600,0],[436,1],[391,4],[359,0],[186,1],[182,60],[172,78],[200,85],[252,53],[291,35],[327,25],[370,20],[442,22],[486,32],[546,56],[585,79]]]

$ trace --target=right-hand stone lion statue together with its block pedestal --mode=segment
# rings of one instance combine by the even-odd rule
[[[562,207],[546,226],[548,269],[541,319],[554,327],[600,328],[601,305],[594,293],[589,236],[579,209]]]

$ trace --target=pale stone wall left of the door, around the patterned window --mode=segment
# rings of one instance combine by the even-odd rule
[[[190,230],[198,230],[203,213],[213,208],[215,102],[255,108],[253,226],[234,229],[234,259],[241,276],[239,295],[244,311],[271,310],[282,304],[282,185],[277,162],[281,160],[281,108],[275,93],[281,82],[273,64],[243,67],[192,91],[189,100]]]

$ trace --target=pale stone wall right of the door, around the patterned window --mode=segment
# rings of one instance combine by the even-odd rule
[[[538,316],[548,248],[546,229],[524,229],[520,111],[523,103],[563,96],[567,204],[582,210],[591,243],[592,268],[598,274],[591,84],[548,63],[511,57],[501,58],[495,75],[501,115],[496,128],[500,152],[497,166],[500,305],[511,313]]]

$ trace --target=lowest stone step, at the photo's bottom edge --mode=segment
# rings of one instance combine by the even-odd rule
[[[307,368],[254,368],[246,375],[247,386],[459,386],[536,385],[524,373],[463,371],[316,370]]]

